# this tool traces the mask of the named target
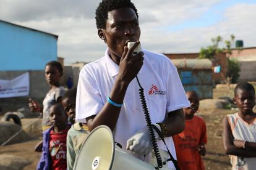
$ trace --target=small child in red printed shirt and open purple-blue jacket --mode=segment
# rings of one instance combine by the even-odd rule
[[[36,169],[67,169],[66,140],[70,124],[60,103],[49,108],[49,121],[53,126],[43,132],[43,153]]]

